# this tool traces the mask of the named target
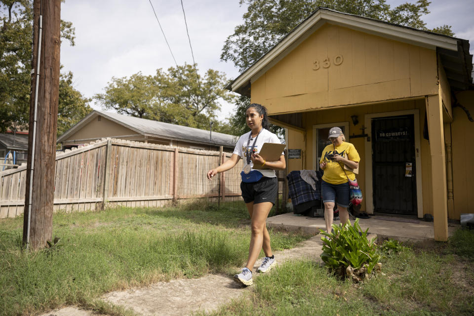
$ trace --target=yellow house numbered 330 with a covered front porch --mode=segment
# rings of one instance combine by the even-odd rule
[[[472,58],[467,40],[318,8],[228,88],[286,128],[289,171],[317,169],[340,126],[362,210],[432,214],[446,240],[448,218],[474,213]]]

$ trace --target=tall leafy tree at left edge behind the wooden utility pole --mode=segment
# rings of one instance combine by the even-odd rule
[[[32,34],[33,1],[0,0],[0,132],[28,127]],[[61,21],[61,38],[74,45],[71,22]]]

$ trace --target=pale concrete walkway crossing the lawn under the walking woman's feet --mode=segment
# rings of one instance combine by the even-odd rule
[[[321,247],[321,237],[311,237],[301,242],[296,248],[275,252],[277,264],[296,258],[320,261]],[[259,276],[256,271],[260,261],[255,264],[254,278]],[[102,299],[132,309],[138,315],[184,316],[197,311],[210,312],[217,310],[232,299],[238,298],[248,289],[237,284],[230,276],[207,275],[200,278],[158,282],[143,288],[111,292],[104,295]],[[97,314],[70,306],[41,316],[92,315]]]

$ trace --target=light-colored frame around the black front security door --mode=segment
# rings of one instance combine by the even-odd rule
[[[372,138],[372,118],[396,117],[402,115],[413,115],[413,131],[415,133],[415,177],[416,177],[416,208],[418,218],[423,217],[423,190],[422,190],[422,164],[421,164],[421,141],[420,141],[420,113],[418,109],[382,112],[374,114],[366,114],[364,116],[364,124],[367,135]],[[374,213],[374,196],[372,181],[372,139],[369,142],[365,138],[365,207],[369,214]],[[370,194],[368,194],[370,192]]]

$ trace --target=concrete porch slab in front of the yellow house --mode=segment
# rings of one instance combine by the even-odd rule
[[[351,218],[351,222],[354,219]],[[339,220],[334,224],[339,224]],[[286,213],[269,217],[267,219],[269,227],[282,227],[288,230],[303,230],[309,234],[319,233],[319,229],[325,229],[324,218],[309,218],[306,216],[298,216],[293,213]],[[425,222],[418,219],[407,219],[402,217],[391,216],[371,216],[368,219],[359,218],[360,227],[365,230],[369,229],[369,233],[378,237],[389,237],[399,241],[434,241],[435,233],[433,222]],[[459,225],[449,224],[448,235],[452,236]]]

